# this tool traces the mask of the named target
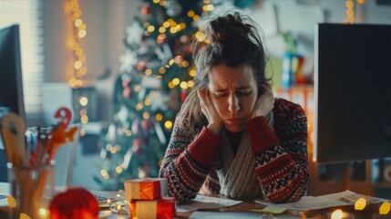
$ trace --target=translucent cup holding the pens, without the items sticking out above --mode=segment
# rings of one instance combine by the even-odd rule
[[[48,206],[56,193],[53,163],[38,167],[7,164],[11,196],[10,218],[49,218]],[[25,215],[24,215],[25,214]]]

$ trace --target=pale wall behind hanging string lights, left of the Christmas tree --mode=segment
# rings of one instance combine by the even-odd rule
[[[45,50],[45,82],[66,82],[73,76],[73,51],[67,47],[67,38],[73,36],[70,16],[65,13],[66,1],[43,3]],[[98,88],[99,115],[108,120],[114,79],[118,75],[119,57],[124,51],[123,37],[126,26],[139,13],[139,1],[80,0],[87,36],[80,46],[87,57],[86,79]],[[111,75],[98,80],[106,70]]]

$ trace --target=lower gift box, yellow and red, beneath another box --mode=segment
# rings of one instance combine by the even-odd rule
[[[158,200],[133,200],[130,202],[130,218],[168,219],[175,216],[175,198],[162,197]]]

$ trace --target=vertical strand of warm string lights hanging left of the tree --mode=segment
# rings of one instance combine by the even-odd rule
[[[87,25],[81,19],[82,11],[78,5],[78,0],[69,0],[65,5],[65,11],[71,17],[72,22],[72,36],[67,39],[67,47],[69,47],[74,54],[74,74],[68,80],[69,87],[72,89],[81,88],[83,81],[81,77],[87,74],[87,67],[85,66],[86,55],[80,45],[80,40],[87,36]],[[87,97],[80,95],[77,99],[79,118],[82,124],[88,122],[87,116]],[[83,135],[83,130],[82,130]]]

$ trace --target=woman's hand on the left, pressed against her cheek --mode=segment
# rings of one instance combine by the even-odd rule
[[[220,135],[222,129],[222,120],[211,102],[210,91],[208,88],[197,90],[198,97],[200,98],[201,111],[208,120],[208,129],[216,135]]]

